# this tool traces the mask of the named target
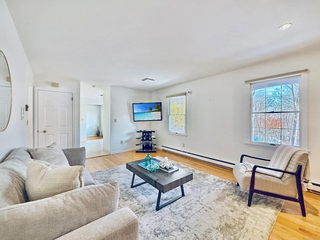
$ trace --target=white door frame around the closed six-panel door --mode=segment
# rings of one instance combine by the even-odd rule
[[[74,147],[74,91],[62,88],[33,87],[33,147],[38,147],[38,90],[72,93],[72,147]]]

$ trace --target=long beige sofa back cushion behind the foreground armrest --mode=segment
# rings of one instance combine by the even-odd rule
[[[116,181],[0,208],[1,240],[54,239],[117,209]]]

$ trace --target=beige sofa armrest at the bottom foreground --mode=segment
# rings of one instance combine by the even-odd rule
[[[135,240],[138,218],[128,207],[121,208],[60,237],[58,240]]]

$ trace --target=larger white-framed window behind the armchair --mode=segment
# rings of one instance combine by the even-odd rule
[[[250,80],[251,142],[300,146],[301,74]]]

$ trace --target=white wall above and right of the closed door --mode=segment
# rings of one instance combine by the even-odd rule
[[[59,83],[59,87],[52,87],[51,82]],[[73,93],[73,147],[80,146],[80,81],[69,78],[34,74],[33,86],[54,90],[67,90]]]

